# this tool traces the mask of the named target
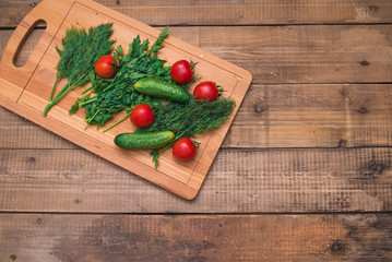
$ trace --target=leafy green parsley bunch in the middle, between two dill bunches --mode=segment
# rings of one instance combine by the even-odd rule
[[[136,36],[129,45],[127,55],[122,47],[118,46],[114,53],[115,59],[119,61],[116,75],[112,79],[93,80],[92,86],[84,91],[84,93],[90,93],[75,102],[70,114],[84,107],[85,122],[97,124],[99,128],[114,118],[114,114],[126,110],[127,115],[104,130],[107,131],[127,119],[134,106],[144,103],[156,106],[159,103],[157,99],[138,93],[133,85],[147,76],[171,81],[170,67],[164,67],[166,61],[156,56],[157,51],[164,47],[162,44],[168,36],[167,32],[168,27],[159,34],[151,48],[149,48],[149,39],[142,41],[140,36]]]

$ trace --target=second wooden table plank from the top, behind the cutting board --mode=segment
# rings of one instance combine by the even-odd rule
[[[254,84],[392,82],[392,25],[186,26],[170,34],[250,71]],[[9,37],[0,31],[0,55]]]

